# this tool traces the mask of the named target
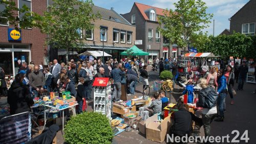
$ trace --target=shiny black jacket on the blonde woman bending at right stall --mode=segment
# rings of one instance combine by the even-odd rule
[[[209,92],[210,94],[207,94]],[[209,95],[211,97],[209,97]],[[214,88],[212,88],[211,86],[203,88],[202,90],[199,91],[199,94],[198,94],[199,102],[197,103],[197,107],[203,107],[203,108],[215,107],[217,104],[217,98],[218,98],[218,94],[215,92]]]

